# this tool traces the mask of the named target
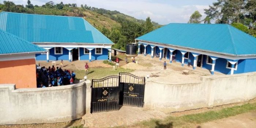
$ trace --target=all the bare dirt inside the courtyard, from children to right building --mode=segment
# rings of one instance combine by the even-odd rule
[[[112,63],[115,60],[115,56],[112,57]],[[143,56],[139,54],[135,57],[135,60],[138,61],[138,64],[131,63],[131,57],[127,57],[129,63],[125,64],[125,56],[118,56],[120,60],[120,67],[133,69],[135,71],[131,72],[136,76],[147,76],[147,75],[155,75],[155,77],[150,77],[148,80],[154,80],[155,82],[162,83],[192,83],[192,82],[201,82],[200,76],[211,75],[210,71],[207,69],[201,69],[196,67],[196,70],[192,70],[193,67],[188,67],[186,64],[184,67],[181,67],[181,63],[173,62],[169,63],[169,60],[162,59],[159,61],[159,58],[151,59],[150,55]],[[163,70],[163,63],[166,61],[167,69]],[[90,67],[106,67],[112,68],[112,65],[102,63],[102,60],[95,61],[64,61],[63,69],[69,70],[83,70],[84,64],[88,63]],[[52,66],[52,62],[47,63],[46,61],[36,61],[37,65],[49,67]],[[60,61],[56,61],[56,67],[60,67]],[[189,75],[182,74],[183,70],[188,70]],[[221,73],[215,72],[215,75],[222,75]]]

